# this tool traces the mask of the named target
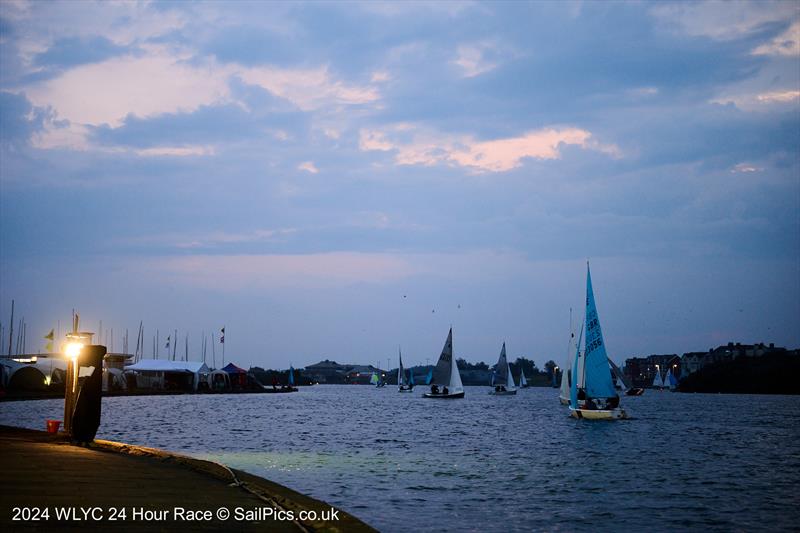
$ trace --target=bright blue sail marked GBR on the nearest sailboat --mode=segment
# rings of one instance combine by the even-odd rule
[[[611,381],[608,366],[606,345],[603,342],[603,331],[597,318],[597,307],[594,303],[592,275],[589,264],[586,264],[586,345],[584,349],[584,386],[589,398],[613,398],[617,395]]]

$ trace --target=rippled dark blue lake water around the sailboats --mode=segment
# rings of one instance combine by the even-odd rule
[[[106,398],[98,438],[222,461],[382,531],[795,530],[792,396],[624,398],[635,417],[567,416],[556,389],[464,400],[317,386],[296,394]],[[44,429],[62,401],[0,404]]]

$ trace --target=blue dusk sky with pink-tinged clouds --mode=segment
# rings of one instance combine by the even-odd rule
[[[587,260],[618,362],[800,346],[800,4],[0,2],[3,353],[541,368]]]

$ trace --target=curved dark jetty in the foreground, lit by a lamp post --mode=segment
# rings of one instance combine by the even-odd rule
[[[9,426],[0,426],[0,479],[2,531],[375,531],[219,463]]]

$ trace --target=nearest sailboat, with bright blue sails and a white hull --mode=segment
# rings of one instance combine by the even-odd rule
[[[592,290],[592,275],[589,263],[586,263],[586,318],[584,319],[586,340],[583,357],[580,352],[575,355],[573,368],[581,368],[579,360],[583,359],[582,387],[578,379],[573,380],[570,387],[570,414],[575,418],[589,420],[618,420],[628,418],[625,410],[619,407],[619,395],[614,390],[611,372],[608,366],[608,355],[603,341],[603,331],[597,316],[597,306]]]

